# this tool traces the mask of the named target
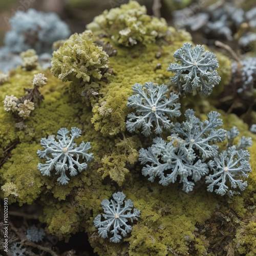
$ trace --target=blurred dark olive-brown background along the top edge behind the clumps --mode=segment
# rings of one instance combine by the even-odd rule
[[[86,24],[92,22],[93,18],[103,10],[119,7],[128,2],[129,0],[1,0],[0,45],[3,45],[4,34],[9,29],[7,20],[17,10],[34,8],[38,11],[55,12],[69,24],[72,33],[80,33],[84,31]],[[148,14],[153,14],[154,0],[137,0],[137,2],[147,7]],[[170,23],[172,11],[182,9],[191,2],[192,0],[162,0],[161,15]]]

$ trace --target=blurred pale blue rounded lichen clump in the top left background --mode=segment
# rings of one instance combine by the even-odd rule
[[[56,13],[44,13],[35,9],[17,11],[9,20],[11,30],[6,33],[5,45],[11,52],[20,53],[28,49],[36,52],[51,52],[53,42],[65,39],[70,30]]]

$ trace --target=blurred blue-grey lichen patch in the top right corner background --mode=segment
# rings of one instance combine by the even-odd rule
[[[173,15],[180,27],[202,33],[207,45],[214,44],[216,40],[237,40],[241,49],[245,49],[256,40],[256,7],[246,9],[248,11],[234,6],[231,1],[225,1],[221,5],[202,8],[201,12],[196,11],[193,15],[187,15],[187,9],[175,11]]]

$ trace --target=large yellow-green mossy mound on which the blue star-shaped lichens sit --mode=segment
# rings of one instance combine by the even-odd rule
[[[137,4],[130,2],[129,5]],[[117,10],[122,8],[124,7]],[[141,7],[134,7],[136,8],[139,11]],[[141,16],[143,15],[145,14]],[[118,35],[118,29],[110,28],[110,35],[116,32]],[[154,26],[148,29],[150,30],[154,30]],[[60,240],[68,242],[76,232],[86,232],[91,246],[100,256],[201,256],[228,253],[251,256],[256,248],[256,135],[251,134],[248,125],[236,115],[227,115],[218,110],[222,114],[225,130],[236,125],[240,136],[252,137],[253,140],[253,146],[248,148],[252,172],[248,177],[248,186],[241,196],[229,199],[209,193],[203,180],[196,183],[191,193],[185,194],[178,182],[163,187],[157,181],[148,182],[141,174],[138,151],[141,147],[150,146],[152,138],[145,139],[140,134],[126,131],[127,115],[132,112],[126,104],[133,94],[132,86],[137,82],[143,84],[154,81],[156,84],[166,84],[169,91],[175,89],[167,68],[170,63],[175,62],[174,52],[184,42],[191,40],[184,31],[177,32],[172,27],[167,30],[167,40],[156,39],[149,44],[144,44],[144,41],[139,44],[138,41],[133,47],[120,46],[111,36],[101,38],[117,50],[117,55],[109,57],[109,62],[104,63],[113,73],[108,79],[101,77],[99,80],[99,77],[96,78],[98,72],[100,75],[103,73],[97,68],[96,77],[89,75],[89,82],[84,82],[82,76],[76,77],[82,63],[77,61],[78,55],[73,57],[71,49],[78,42],[84,42],[82,46],[87,50],[91,46],[90,49],[95,51],[101,48],[93,42],[94,39],[75,34],[71,37],[72,40],[68,39],[63,48],[57,51],[70,57],[66,62],[69,68],[74,61],[79,62],[79,68],[65,78],[73,84],[56,77],[62,74],[61,67],[65,63],[61,62],[62,55],[59,59],[54,56],[57,73],[53,73],[56,76],[50,71],[45,72],[48,84],[40,89],[45,99],[35,105],[35,110],[25,121],[24,130],[15,128],[16,118],[4,110],[2,101],[5,95],[22,97],[24,88],[32,86],[34,74],[42,71],[23,71],[18,68],[11,72],[9,81],[0,86],[0,196],[8,197],[9,203],[16,204],[17,209],[18,205],[24,204],[33,204],[40,209],[39,220],[46,223],[47,230]],[[79,39],[75,41],[75,38]],[[100,56],[105,56],[102,49],[101,52]],[[230,63],[222,54],[218,54],[218,60],[223,87],[230,76]],[[219,86],[213,89],[209,98],[199,95],[181,98],[181,112],[191,108],[202,120],[207,118],[207,113],[216,111],[212,102],[221,91]],[[92,88],[98,94],[88,99],[90,104],[84,104],[81,91],[90,91]],[[88,164],[87,172],[82,172],[72,177],[68,184],[59,186],[55,172],[50,177],[41,175],[37,169],[40,159],[36,152],[41,148],[41,138],[56,134],[61,127],[71,129],[74,126],[82,131],[76,143],[90,141],[94,160]],[[224,141],[220,147],[225,149],[225,144]],[[120,243],[113,244],[98,236],[93,220],[102,212],[102,200],[110,199],[116,191],[123,191],[134,202],[134,207],[141,211],[141,217],[134,223],[129,236]]]

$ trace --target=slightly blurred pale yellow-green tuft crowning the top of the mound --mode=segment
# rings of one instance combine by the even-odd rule
[[[120,8],[105,10],[87,25],[96,35],[103,34],[119,45],[131,47],[139,44],[154,43],[166,35],[168,27],[164,18],[146,14],[146,7],[136,1],[121,5]]]

